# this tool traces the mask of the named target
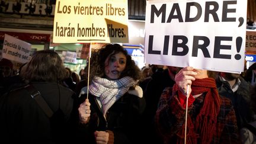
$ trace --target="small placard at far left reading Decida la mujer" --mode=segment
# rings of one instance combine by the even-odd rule
[[[5,34],[2,57],[15,62],[26,63],[30,60],[31,44]]]

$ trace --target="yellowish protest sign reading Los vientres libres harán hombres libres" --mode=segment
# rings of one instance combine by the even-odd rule
[[[57,0],[53,43],[127,43],[127,0]]]

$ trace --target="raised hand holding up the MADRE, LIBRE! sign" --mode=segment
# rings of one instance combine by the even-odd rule
[[[181,69],[176,75],[175,75],[175,82],[180,88],[180,91],[183,92],[184,95],[187,95],[187,88],[188,88],[188,94],[191,92],[190,85],[192,84],[192,81],[194,81],[196,78],[197,73],[193,72],[193,67],[187,66],[183,69]],[[188,85],[188,87],[187,87]]]

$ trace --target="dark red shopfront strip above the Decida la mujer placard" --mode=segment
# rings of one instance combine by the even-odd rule
[[[36,33],[15,33],[8,31],[0,31],[0,40],[4,40],[4,34],[15,37],[23,41],[33,41],[33,42],[50,42],[50,34],[36,34]]]

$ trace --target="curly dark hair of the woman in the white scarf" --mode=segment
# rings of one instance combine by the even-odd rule
[[[105,60],[108,56],[113,56],[120,52],[126,56],[126,68],[123,72],[121,72],[120,78],[123,78],[124,76],[130,76],[135,81],[142,78],[142,73],[139,67],[136,66],[134,60],[132,60],[132,57],[128,55],[127,51],[122,46],[119,44],[107,44],[100,50],[92,52],[90,60],[89,84],[91,84],[94,76],[105,78]],[[85,75],[88,75],[88,66],[85,68],[85,72]]]

